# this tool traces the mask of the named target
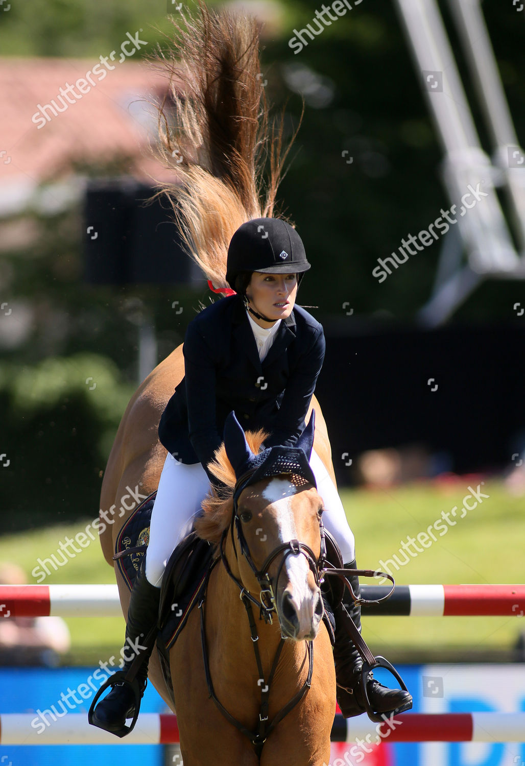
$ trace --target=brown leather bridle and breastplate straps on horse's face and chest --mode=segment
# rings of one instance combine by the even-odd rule
[[[248,486],[249,480],[253,473],[254,473],[254,470],[250,470],[247,473],[244,473],[243,476],[241,476],[237,480],[237,483],[235,484],[235,489],[233,493],[233,510],[231,513],[231,522],[229,525],[229,532],[231,534],[231,542],[235,552],[235,558],[238,560],[237,546],[235,545],[234,528],[235,528],[235,531],[237,532],[239,545],[241,546],[241,555],[243,555],[246,561],[248,562],[248,565],[250,566],[251,571],[253,571],[254,576],[258,581],[259,587],[261,588],[259,599],[254,597],[248,591],[247,588],[244,588],[244,585],[241,583],[241,581],[238,578],[236,578],[233,572],[231,571],[231,567],[228,564],[228,559],[226,558],[226,555],[225,555],[225,541],[228,536],[228,528],[225,529],[225,531],[221,535],[219,552],[221,555],[221,561],[223,565],[225,566],[225,570],[227,571],[229,577],[235,582],[235,584],[239,588],[239,591],[240,591],[239,598],[244,604],[244,608],[246,609],[246,613],[248,615],[248,622],[250,624],[251,640],[254,647],[255,661],[257,663],[258,673],[259,673],[258,686],[261,686],[261,707],[259,712],[258,728],[256,732],[246,728],[244,725],[241,724],[240,721],[235,719],[233,715],[231,715],[228,712],[228,710],[225,709],[224,705],[222,705],[221,702],[219,702],[219,700],[217,699],[217,696],[215,696],[215,691],[213,689],[212,678],[211,678],[210,669],[209,669],[208,649],[206,646],[205,617],[204,617],[205,597],[202,599],[202,601],[199,604],[199,610],[201,613],[202,656],[204,659],[205,675],[206,675],[206,682],[208,683],[209,696],[213,699],[213,701],[215,702],[215,705],[217,705],[222,715],[224,715],[225,718],[231,724],[233,724],[236,728],[238,728],[240,732],[242,732],[251,740],[252,745],[254,745],[256,754],[258,755],[258,757],[260,757],[264,742],[267,740],[268,735],[270,735],[271,731],[275,728],[277,723],[282,721],[282,719],[284,719],[284,716],[287,715],[290,712],[290,710],[292,710],[295,707],[295,705],[297,705],[297,703],[300,702],[301,699],[303,699],[308,689],[310,689],[310,684],[311,684],[312,675],[313,675],[313,642],[311,640],[306,642],[307,656],[308,656],[308,674],[307,674],[306,681],[304,682],[303,686],[299,689],[299,691],[292,697],[292,699],[290,699],[290,701],[287,702],[287,704],[284,705],[284,707],[281,708],[281,710],[277,712],[276,715],[274,715],[274,718],[271,721],[269,721],[268,708],[269,708],[270,687],[274,679],[275,670],[277,669],[277,663],[279,662],[279,658],[281,656],[281,651],[284,647],[284,641],[286,640],[286,637],[284,637],[283,634],[281,633],[281,641],[279,643],[279,646],[277,647],[277,650],[274,656],[274,661],[271,666],[270,675],[268,676],[267,679],[264,679],[264,670],[263,670],[262,662],[261,662],[261,653],[259,652],[259,648],[258,648],[259,636],[257,632],[257,625],[254,620],[252,604],[258,607],[259,609],[259,619],[261,618],[264,619],[264,622],[266,624],[270,624],[270,625],[273,624],[273,615],[274,613],[277,614],[277,607],[275,604],[274,584],[271,581],[271,577],[268,573],[268,570],[271,564],[273,563],[273,561],[275,561],[275,559],[279,555],[282,555],[282,559],[279,564],[279,567],[277,568],[277,575],[275,577],[275,588],[277,588],[277,583],[279,581],[279,577],[281,576],[281,571],[284,568],[284,565],[287,561],[288,556],[299,555],[299,554],[303,554],[306,557],[310,571],[312,571],[313,573],[313,577],[315,579],[316,585],[319,586],[320,580],[322,578],[323,568],[326,562],[326,538],[324,534],[323,521],[322,519],[319,519],[319,527],[320,527],[319,558],[316,558],[312,549],[308,545],[306,545],[304,542],[300,542],[299,540],[294,539],[288,542],[283,542],[281,543],[281,545],[277,545],[277,547],[274,548],[274,550],[271,551],[271,553],[267,555],[267,557],[264,559],[264,562],[261,565],[261,568],[258,569],[257,566],[254,564],[253,558],[251,557],[250,549],[248,547],[248,542],[246,541],[244,532],[242,531],[242,524],[241,524],[241,519],[239,519],[239,516],[238,516],[238,504],[237,504],[238,496],[241,494],[242,489],[244,489],[245,486]]]

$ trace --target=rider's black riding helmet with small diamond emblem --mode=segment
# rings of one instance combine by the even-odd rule
[[[228,247],[226,281],[238,290],[237,277],[254,271],[297,273],[300,283],[310,268],[304,244],[294,228],[282,218],[253,218],[239,226]]]

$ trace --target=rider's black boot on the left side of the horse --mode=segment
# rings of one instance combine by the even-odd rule
[[[139,684],[140,698],[146,689],[148,678],[148,662],[156,641],[156,634],[146,640],[153,625],[159,617],[160,588],[156,588],[146,580],[145,563],[141,565],[136,575],[136,581],[131,591],[130,607],[128,608],[126,624],[126,641],[123,647],[123,672],[126,673],[136,656],[142,658],[136,680]],[[107,732],[116,734],[122,732],[126,718],[135,714],[135,693],[129,683],[116,683],[109,694],[98,702],[92,712],[90,723]],[[127,732],[126,732],[127,733]],[[119,736],[123,736],[122,733]]]

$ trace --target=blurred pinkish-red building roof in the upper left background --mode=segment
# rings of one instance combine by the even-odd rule
[[[0,57],[0,215],[24,209],[42,183],[67,198],[87,165],[166,178],[148,146],[156,134],[150,102],[166,91],[167,80],[144,63],[107,64]]]

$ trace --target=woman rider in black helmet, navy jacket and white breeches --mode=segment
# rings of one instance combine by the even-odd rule
[[[226,280],[233,294],[189,323],[183,345],[185,378],[159,424],[159,439],[168,455],[153,506],[145,571],[139,571],[133,585],[126,643],[135,645],[155,623],[166,561],[191,531],[210,482],[217,486],[207,466],[221,444],[228,413],[235,411],[244,430],[270,432],[264,447],[292,447],[304,429],[325,350],[322,326],[296,305],[297,288],[309,268],[304,245],[290,224],[279,218],[252,219],[235,231],[228,247]],[[346,568],[355,568],[353,533],[315,450],[310,466],[326,508],[326,529],[336,538]],[[351,582],[358,595],[358,578]],[[360,628],[359,605],[349,597],[344,601]],[[153,644],[139,647],[143,663],[136,677],[143,693]],[[343,715],[357,715],[365,709],[359,687],[362,660],[337,624],[334,659]],[[130,662],[123,669],[129,666]],[[391,712],[411,699],[409,692],[386,689],[372,673],[367,692],[377,712]],[[130,686],[115,685],[95,708],[93,722],[118,732],[134,707]]]

